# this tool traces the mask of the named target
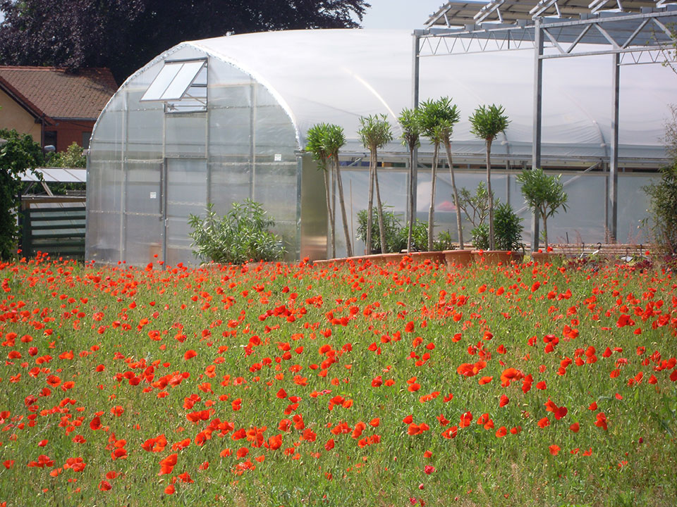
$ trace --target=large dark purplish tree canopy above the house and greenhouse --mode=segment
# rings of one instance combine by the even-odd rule
[[[108,67],[118,82],[185,40],[353,28],[366,0],[0,0],[0,63]]]

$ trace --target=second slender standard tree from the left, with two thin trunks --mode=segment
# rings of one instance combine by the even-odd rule
[[[369,149],[369,199],[367,202],[367,230],[372,230],[374,216],[374,187],[376,187],[376,202],[379,215],[379,237],[381,239],[381,253],[387,252],[385,230],[383,225],[383,205],[379,191],[379,176],[377,174],[378,150],[393,140],[393,132],[386,115],[369,115],[360,117],[358,136],[365,148]],[[372,237],[367,234],[365,253],[372,253]]]

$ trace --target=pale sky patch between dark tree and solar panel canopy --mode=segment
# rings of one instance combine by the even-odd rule
[[[362,20],[365,28],[423,28],[446,0],[367,0],[372,5]]]

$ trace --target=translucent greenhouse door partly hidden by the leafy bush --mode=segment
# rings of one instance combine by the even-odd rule
[[[188,217],[204,215],[207,204],[207,160],[165,158],[164,244],[166,264],[196,261],[190,248]]]

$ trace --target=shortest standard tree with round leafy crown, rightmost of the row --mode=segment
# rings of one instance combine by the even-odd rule
[[[546,249],[548,248],[548,218],[557,213],[559,208],[566,211],[566,193],[560,179],[561,175],[548,176],[541,168],[525,169],[517,177],[517,181],[522,184],[525,204],[532,211],[538,210],[543,218]]]

